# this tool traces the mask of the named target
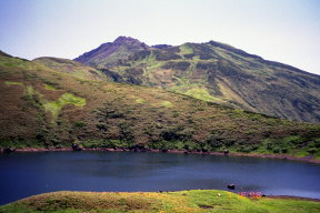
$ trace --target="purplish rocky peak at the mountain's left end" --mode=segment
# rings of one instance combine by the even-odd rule
[[[148,49],[148,45],[130,37],[119,37],[113,42],[101,44],[99,48],[86,52],[74,61],[94,67],[109,67],[119,64],[130,54]]]

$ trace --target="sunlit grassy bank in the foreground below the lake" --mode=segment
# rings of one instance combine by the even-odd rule
[[[320,212],[316,201],[248,199],[218,190],[180,192],[53,192],[0,206],[0,212]]]

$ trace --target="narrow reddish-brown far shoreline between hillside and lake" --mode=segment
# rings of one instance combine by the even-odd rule
[[[129,150],[129,149],[109,149],[109,148],[81,148],[74,150],[72,148],[60,148],[60,149],[46,149],[46,148],[24,148],[24,149],[12,149],[9,152],[61,152],[61,151],[104,151],[104,152],[167,152],[167,153],[180,153],[180,154],[203,154],[203,155],[224,155],[224,156],[250,156],[261,159],[280,159],[291,161],[302,161],[308,163],[318,163],[320,160],[312,159],[311,156],[292,156],[288,154],[256,154],[256,153],[233,153],[233,152],[197,152],[197,151],[181,151],[181,150],[159,150],[159,149],[144,149],[144,150]],[[0,153],[4,153],[4,150],[0,150]]]

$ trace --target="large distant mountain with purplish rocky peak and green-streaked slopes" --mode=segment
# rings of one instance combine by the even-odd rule
[[[319,75],[220,42],[148,47],[120,37],[74,60],[118,73],[122,82],[272,116],[320,122]]]

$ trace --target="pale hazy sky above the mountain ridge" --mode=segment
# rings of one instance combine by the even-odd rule
[[[320,0],[0,0],[0,50],[74,59],[119,36],[228,43],[320,74]]]

